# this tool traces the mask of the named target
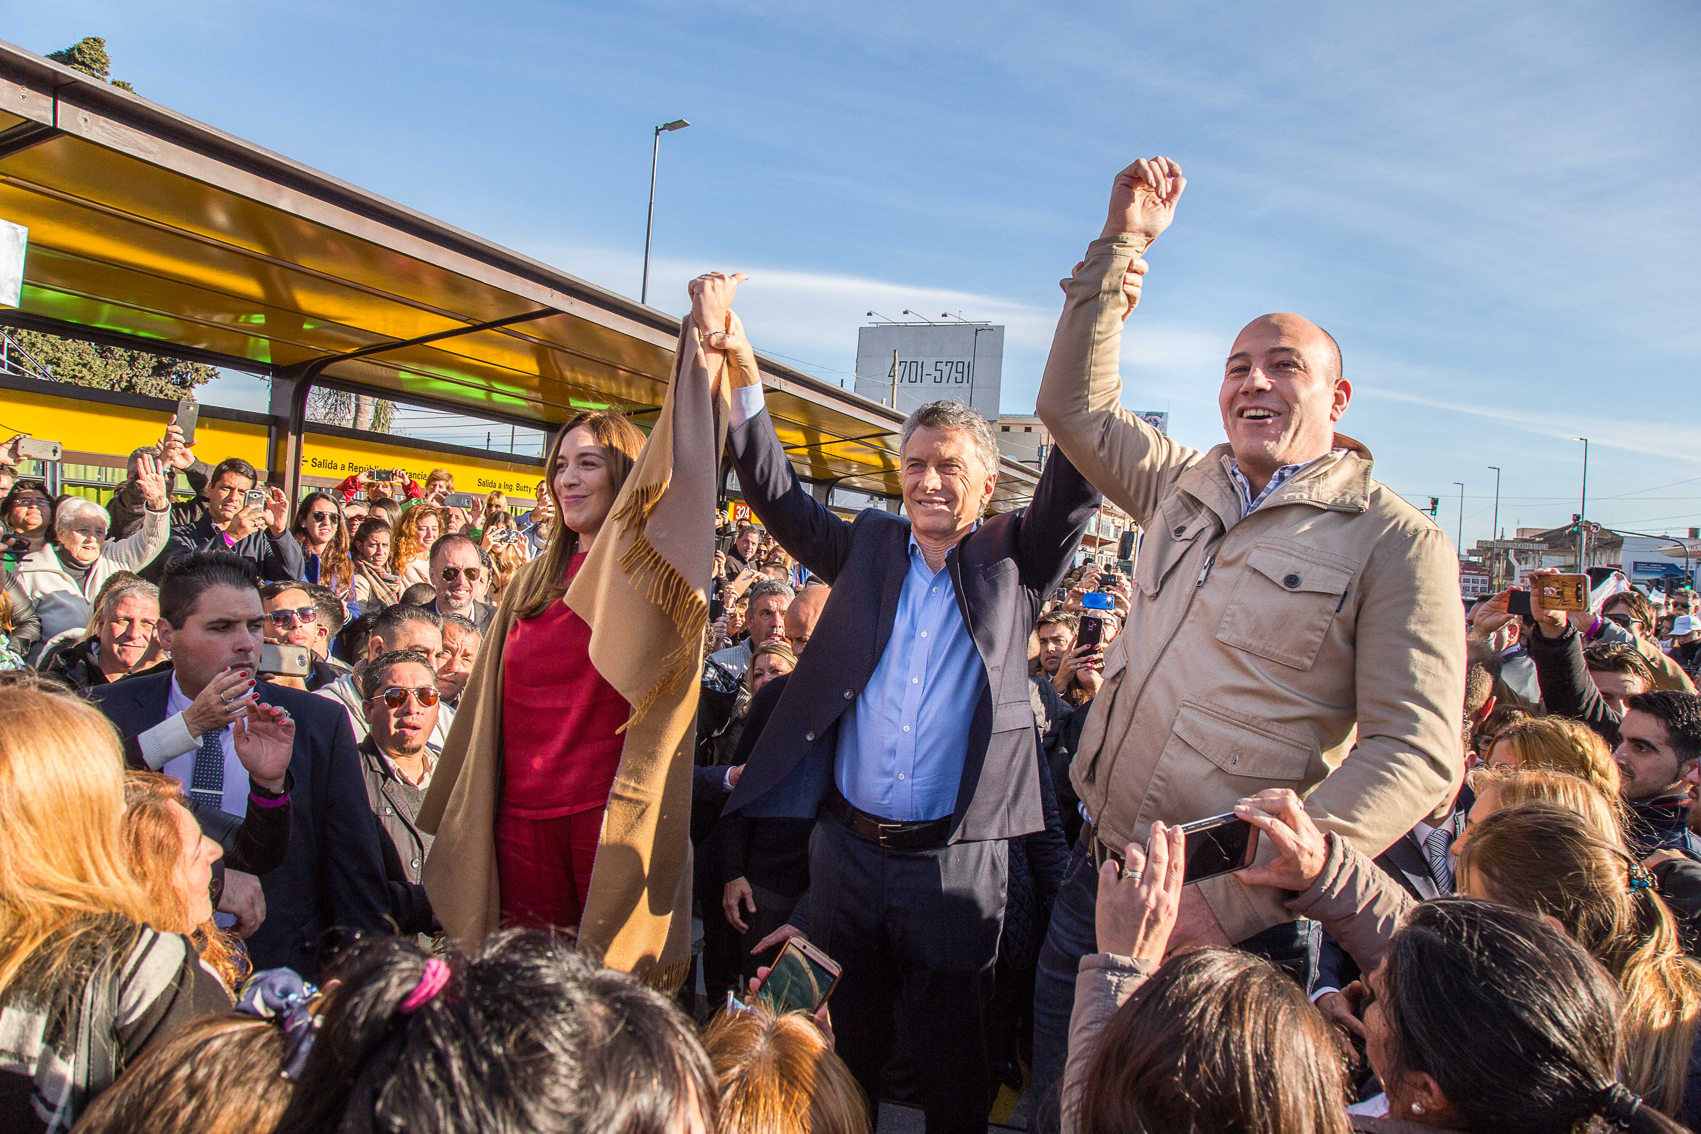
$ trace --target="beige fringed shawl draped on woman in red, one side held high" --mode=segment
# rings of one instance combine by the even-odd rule
[[[668,991],[691,961],[691,757],[730,415],[723,366],[687,318],[662,415],[565,597],[590,624],[592,665],[633,706],[580,949]],[[420,809],[437,833],[425,889],[463,949],[500,921],[502,648],[519,590],[497,609]]]

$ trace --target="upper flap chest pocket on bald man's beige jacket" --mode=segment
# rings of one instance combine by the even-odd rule
[[[1247,554],[1247,570],[1235,581],[1216,639],[1310,670],[1351,585],[1351,570],[1315,553],[1259,544]]]

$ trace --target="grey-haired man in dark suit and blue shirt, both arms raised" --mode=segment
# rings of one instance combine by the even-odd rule
[[[1053,454],[1029,508],[981,520],[997,439],[980,415],[936,401],[903,423],[908,522],[878,508],[840,520],[774,434],[731,320],[735,287],[701,277],[692,315],[728,328],[706,347],[728,352],[738,485],[779,544],[832,585],[726,804],[755,818],[820,813],[810,891],[764,944],[803,928],[844,966],[833,1030],[871,1117],[902,1003],[927,1129],[983,1131],[1005,840],[1044,828],[1027,636],[1099,495]]]

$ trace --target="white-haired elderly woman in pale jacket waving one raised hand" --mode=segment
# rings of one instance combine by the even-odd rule
[[[100,585],[114,571],[141,571],[165,551],[172,534],[170,498],[165,476],[153,457],[139,457],[139,474],[146,517],[141,529],[128,537],[105,537],[111,517],[94,500],[66,496],[53,513],[53,541],[24,556],[17,566],[17,585],[36,604],[41,641],[31,651],[36,661],[60,634],[82,638],[94,612]]]

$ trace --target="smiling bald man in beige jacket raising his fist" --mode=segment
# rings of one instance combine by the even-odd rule
[[[1138,870],[1155,825],[1293,789],[1318,826],[1374,857],[1444,813],[1463,777],[1458,559],[1427,515],[1371,478],[1369,451],[1335,432],[1352,400],[1335,340],[1298,315],[1249,323],[1218,389],[1228,440],[1208,452],[1121,408],[1140,257],[1184,185],[1167,158],[1118,175],[1102,235],[1063,281],[1039,388],[1058,447],[1145,530],[1128,626],[1070,767],[1090,823],[1039,959],[1041,1098],[1061,1076],[1077,969],[1099,952],[1101,869],[1126,853]],[[1259,860],[1271,853],[1262,840]],[[1240,944],[1306,981],[1315,935],[1284,898],[1233,874],[1187,886],[1169,949]]]

